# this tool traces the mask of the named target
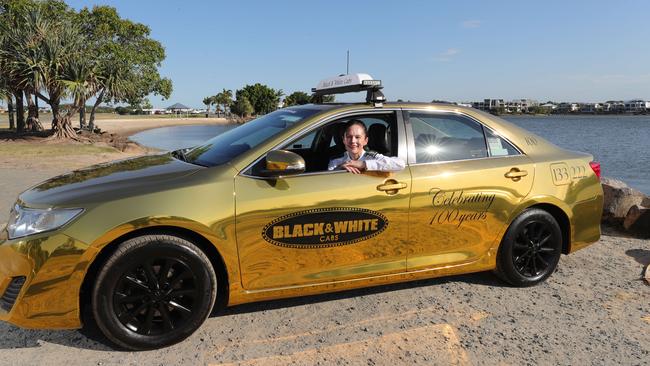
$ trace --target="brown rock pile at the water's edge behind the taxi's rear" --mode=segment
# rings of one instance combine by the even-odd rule
[[[602,185],[602,223],[630,236],[650,239],[650,197],[617,179],[603,178]]]

